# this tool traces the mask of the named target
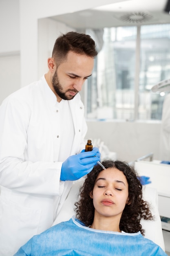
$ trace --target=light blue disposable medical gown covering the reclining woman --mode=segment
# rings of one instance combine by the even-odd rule
[[[33,236],[15,256],[164,256],[161,247],[140,232],[103,231],[85,227],[74,217]]]

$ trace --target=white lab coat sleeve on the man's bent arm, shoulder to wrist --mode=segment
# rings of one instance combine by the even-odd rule
[[[61,195],[62,162],[25,161],[30,116],[29,106],[16,99],[0,107],[0,185],[24,193]]]

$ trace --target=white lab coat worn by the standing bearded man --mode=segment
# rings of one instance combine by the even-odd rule
[[[72,182],[60,181],[56,97],[44,76],[0,107],[0,256],[11,256],[49,228]],[[84,148],[87,126],[79,94],[69,101],[75,136],[71,155]],[[69,132],[69,124],[68,124]]]

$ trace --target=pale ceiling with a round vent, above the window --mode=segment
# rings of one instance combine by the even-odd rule
[[[170,14],[164,11],[167,1],[119,0],[119,2],[102,7],[49,18],[63,22],[75,29],[100,29],[104,27],[170,23]]]

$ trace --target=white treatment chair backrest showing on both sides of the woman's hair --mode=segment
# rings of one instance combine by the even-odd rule
[[[77,201],[77,195],[80,186],[82,186],[84,178],[73,183],[73,186],[68,193],[60,213],[58,214],[53,225],[62,221],[69,220],[74,215],[74,203]],[[161,227],[161,219],[158,211],[158,194],[155,188],[143,186],[144,200],[150,203],[152,215],[155,216],[155,220],[142,220],[141,225],[145,229],[145,237],[152,240],[159,245],[165,251],[165,245],[163,241],[163,233]]]

